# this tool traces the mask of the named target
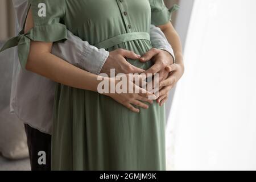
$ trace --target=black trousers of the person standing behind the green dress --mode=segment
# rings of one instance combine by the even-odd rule
[[[51,135],[24,125],[32,171],[51,171]]]

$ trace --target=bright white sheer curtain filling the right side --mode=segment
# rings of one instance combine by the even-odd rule
[[[195,0],[167,130],[172,169],[256,169],[255,0]]]

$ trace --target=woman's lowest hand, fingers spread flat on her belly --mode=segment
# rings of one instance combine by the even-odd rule
[[[110,85],[115,84],[117,85],[120,81],[116,78],[109,78]],[[130,88],[129,88],[130,87]],[[137,92],[129,93],[129,89],[137,90]],[[134,84],[133,81],[127,80],[127,88],[122,89],[126,90],[125,93],[120,93],[115,90],[115,93],[107,93],[106,96],[113,98],[113,100],[117,101],[119,104],[127,107],[127,109],[139,113],[139,109],[137,107],[142,107],[143,109],[148,109],[148,105],[144,104],[143,102],[148,102],[148,104],[153,104],[153,100],[156,100],[156,96],[147,90],[139,87],[138,85]],[[150,99],[149,99],[150,98]]]

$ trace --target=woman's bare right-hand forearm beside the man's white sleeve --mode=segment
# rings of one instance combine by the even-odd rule
[[[171,22],[168,22],[162,26],[158,26],[166,35],[168,42],[171,44],[172,49],[174,49],[174,55],[176,63],[183,65],[183,51],[179,35],[177,34],[174,26]]]

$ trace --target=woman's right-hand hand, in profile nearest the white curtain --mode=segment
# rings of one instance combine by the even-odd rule
[[[183,76],[184,73],[184,65],[183,64],[172,64],[166,67],[166,71],[170,72],[170,76],[160,82],[159,88],[162,88],[159,92],[159,97],[156,100],[160,106],[164,104],[168,100],[169,92],[180,78]]]

